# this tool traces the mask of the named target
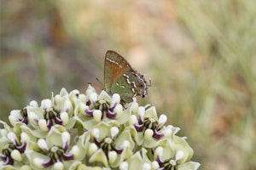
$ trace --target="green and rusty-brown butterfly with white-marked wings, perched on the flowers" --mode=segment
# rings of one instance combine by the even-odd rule
[[[112,50],[108,50],[105,56],[104,84],[108,94],[119,94],[126,103],[131,103],[137,95],[147,96],[151,86],[151,82],[148,84],[143,75]]]

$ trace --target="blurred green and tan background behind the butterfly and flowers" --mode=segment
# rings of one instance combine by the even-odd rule
[[[150,78],[201,169],[256,169],[256,2],[0,1],[0,118],[61,88],[103,88],[104,55]],[[100,81],[96,81],[98,78]]]

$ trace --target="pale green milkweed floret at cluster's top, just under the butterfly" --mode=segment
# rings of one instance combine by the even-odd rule
[[[86,94],[88,94],[87,100],[77,101],[74,110],[74,118],[85,129],[90,129],[99,122],[120,125],[129,120],[130,114],[127,113],[129,110],[123,110],[119,94],[113,94],[113,97],[111,97],[105,91],[102,91],[100,95],[97,95],[91,86],[87,89]]]

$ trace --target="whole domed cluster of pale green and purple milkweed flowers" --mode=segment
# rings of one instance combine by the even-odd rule
[[[193,150],[154,106],[96,94],[89,85],[10,112],[0,133],[0,169],[185,170]]]

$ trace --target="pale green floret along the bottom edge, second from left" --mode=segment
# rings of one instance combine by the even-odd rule
[[[51,127],[45,139],[38,139],[37,150],[26,150],[26,156],[33,169],[64,169],[84,157],[84,149],[78,143],[71,145],[70,133],[65,127],[55,125]]]

